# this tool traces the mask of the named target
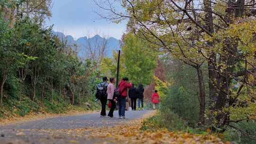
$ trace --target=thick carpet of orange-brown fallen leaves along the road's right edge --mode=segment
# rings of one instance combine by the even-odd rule
[[[141,124],[141,121],[137,121],[125,126],[93,129],[91,133],[93,138],[110,138],[109,143],[118,141],[120,144],[230,144],[214,135],[192,135],[166,129],[142,131]]]

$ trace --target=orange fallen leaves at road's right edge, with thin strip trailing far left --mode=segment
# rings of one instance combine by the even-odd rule
[[[121,122],[118,126],[112,127],[43,131],[53,137],[59,133],[97,140],[97,144],[230,144],[222,142],[220,138],[210,134],[193,135],[184,132],[171,132],[167,129],[142,130],[143,123],[144,120],[141,119]],[[79,143],[78,140],[72,142]]]

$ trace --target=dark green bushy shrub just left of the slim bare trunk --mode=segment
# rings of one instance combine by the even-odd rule
[[[179,61],[166,63],[166,67],[171,68],[167,72],[171,86],[162,105],[195,126],[200,112],[196,70]]]

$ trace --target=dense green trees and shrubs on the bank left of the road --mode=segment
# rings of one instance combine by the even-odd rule
[[[1,3],[0,12],[8,4]],[[52,27],[19,15],[15,22],[0,16],[0,117],[98,108],[94,92],[101,72],[53,36]]]

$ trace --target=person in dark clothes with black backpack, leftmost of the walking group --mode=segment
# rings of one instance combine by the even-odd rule
[[[96,98],[101,101],[101,117],[106,117],[108,78],[103,77],[102,82],[97,85]]]

